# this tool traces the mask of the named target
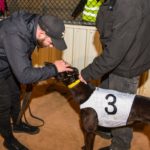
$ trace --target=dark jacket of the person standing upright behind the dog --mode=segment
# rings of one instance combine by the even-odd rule
[[[149,0],[106,0],[96,26],[103,53],[81,71],[85,80],[110,72],[130,78],[150,68]]]

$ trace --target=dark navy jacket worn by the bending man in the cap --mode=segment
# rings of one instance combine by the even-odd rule
[[[36,14],[20,11],[0,21],[0,78],[13,73],[21,83],[34,83],[57,74],[53,64],[43,68],[32,66],[38,19]]]

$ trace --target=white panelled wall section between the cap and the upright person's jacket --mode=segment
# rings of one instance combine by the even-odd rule
[[[66,25],[65,40],[68,48],[63,58],[79,70],[91,63],[101,48],[95,27]]]

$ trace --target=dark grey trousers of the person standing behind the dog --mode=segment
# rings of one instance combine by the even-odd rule
[[[120,92],[136,93],[139,85],[139,76],[133,78],[120,77],[115,74],[109,74],[102,78],[101,88],[113,89]],[[133,137],[132,127],[121,127],[111,130],[112,150],[129,150]]]

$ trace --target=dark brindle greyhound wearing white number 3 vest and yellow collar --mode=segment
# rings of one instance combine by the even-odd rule
[[[83,150],[93,150],[99,126],[115,128],[136,121],[149,123],[150,98],[93,87],[81,82],[78,70],[73,70],[60,73],[57,79],[69,88],[73,100],[80,105],[81,125],[85,135]]]

